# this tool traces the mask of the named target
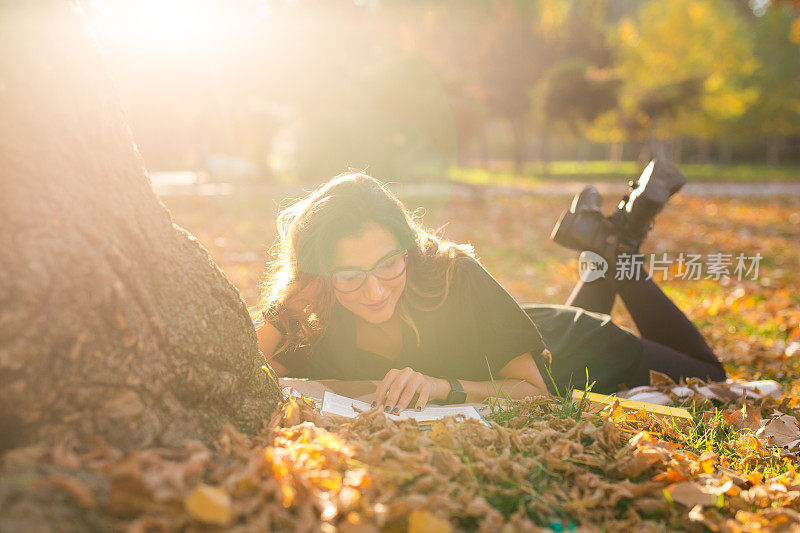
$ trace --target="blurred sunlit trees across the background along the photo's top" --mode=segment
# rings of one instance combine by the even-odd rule
[[[319,182],[800,162],[800,6],[86,0],[151,170]]]

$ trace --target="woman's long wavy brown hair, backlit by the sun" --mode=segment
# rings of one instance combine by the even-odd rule
[[[359,235],[372,222],[408,250],[406,288],[397,312],[419,342],[409,309],[430,311],[440,306],[447,298],[456,261],[472,256],[473,249],[423,229],[418,218],[379,181],[351,173],[333,178],[278,214],[278,242],[270,250],[259,309],[286,333],[279,351],[313,345],[322,333],[334,304],[328,276],[334,249],[342,237]],[[302,309],[287,306],[311,284],[321,287],[319,297]]]

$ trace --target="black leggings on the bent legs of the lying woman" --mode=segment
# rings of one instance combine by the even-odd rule
[[[578,282],[566,305],[611,314],[619,294],[642,336],[642,364],[631,386],[649,383],[650,370],[675,381],[699,377],[724,381],[725,369],[703,335],[651,279]]]

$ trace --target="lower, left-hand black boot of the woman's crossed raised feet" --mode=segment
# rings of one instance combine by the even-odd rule
[[[591,250],[614,265],[617,253],[625,250],[620,250],[617,228],[600,212],[601,202],[597,189],[584,187],[561,214],[550,239],[573,250]]]

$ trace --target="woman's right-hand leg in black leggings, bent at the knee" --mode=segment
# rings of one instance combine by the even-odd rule
[[[645,360],[654,365],[653,370],[664,368],[678,376],[725,379],[722,363],[703,335],[652,279],[624,280],[616,286],[643,337]],[[674,377],[670,372],[665,373]]]

